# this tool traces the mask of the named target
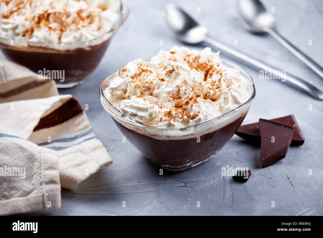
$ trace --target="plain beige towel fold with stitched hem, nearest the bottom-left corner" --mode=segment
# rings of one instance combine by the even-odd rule
[[[0,215],[61,206],[53,150],[0,130]]]

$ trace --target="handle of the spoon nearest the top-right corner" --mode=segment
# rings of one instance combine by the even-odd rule
[[[268,32],[279,43],[281,43],[283,46],[285,46],[287,48],[287,50],[292,52],[298,59],[300,59],[305,64],[307,64],[308,67],[310,67],[314,72],[316,72],[318,75],[320,75],[323,78],[323,68],[320,65],[318,65],[316,62],[314,62],[312,59],[310,59],[302,51],[297,49],[296,46],[294,46],[292,43],[290,43],[288,40],[286,40],[284,37],[282,37],[276,30],[271,29],[271,28],[266,28],[266,32]]]

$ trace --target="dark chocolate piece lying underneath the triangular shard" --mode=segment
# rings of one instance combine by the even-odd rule
[[[292,143],[291,143],[292,146],[304,144],[305,140],[304,140],[303,133],[299,128],[294,115],[271,119],[270,121],[284,124],[294,128]],[[254,144],[260,144],[261,139],[260,139],[260,130],[259,130],[258,122],[240,126],[237,132],[235,132],[235,134]]]

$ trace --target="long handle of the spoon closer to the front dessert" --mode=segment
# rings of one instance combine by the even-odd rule
[[[216,48],[226,51],[229,54],[232,54],[235,57],[238,57],[260,69],[266,70],[269,73],[272,73],[273,75],[276,75],[278,78],[281,79],[286,79],[286,81],[288,81],[289,83],[296,85],[298,88],[303,89],[305,92],[307,92],[309,95],[313,96],[314,98],[323,99],[323,93],[316,88],[315,86],[307,83],[306,81],[297,78],[296,76],[290,75],[290,74],[281,74],[280,70],[276,70],[274,67],[269,66],[263,62],[260,62],[254,58],[251,58],[243,53],[240,53],[226,45],[221,44],[220,42],[217,42],[209,37],[207,37],[205,40],[205,42],[215,46]]]

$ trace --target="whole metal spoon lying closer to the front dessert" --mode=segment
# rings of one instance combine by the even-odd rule
[[[307,83],[306,81],[299,79],[290,74],[282,75],[280,70],[275,70],[274,67],[269,66],[263,62],[253,59],[243,53],[240,53],[228,46],[225,46],[211,38],[208,37],[208,30],[206,27],[199,25],[196,21],[192,19],[187,13],[185,13],[181,8],[174,4],[167,4],[164,10],[164,17],[169,27],[176,33],[177,37],[188,44],[197,44],[200,42],[207,42],[216,48],[226,51],[229,54],[234,55],[260,69],[264,69],[278,78],[286,79],[289,83],[303,89],[309,95],[317,99],[323,99],[323,93],[315,86]]]

